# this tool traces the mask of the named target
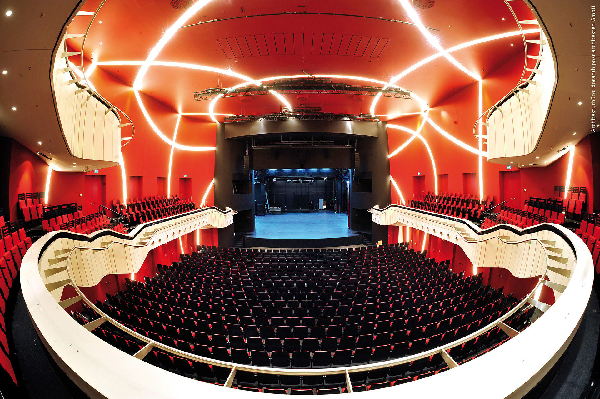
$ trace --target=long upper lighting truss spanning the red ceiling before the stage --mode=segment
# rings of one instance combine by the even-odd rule
[[[347,83],[332,82],[331,78],[281,78],[273,83],[262,84],[261,86],[242,86],[229,87],[221,89],[215,87],[206,89],[203,92],[194,92],[194,101],[203,101],[206,99],[221,97],[236,97],[250,95],[269,94],[269,90],[275,90],[278,93],[294,94],[294,93],[317,93],[317,94],[347,94],[347,95],[366,95],[375,96],[381,95],[384,97],[412,99],[412,94],[408,90],[399,89],[398,87],[381,87],[375,86],[356,86]]]

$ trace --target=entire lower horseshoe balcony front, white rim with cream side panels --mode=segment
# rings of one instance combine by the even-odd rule
[[[426,379],[419,379],[392,388],[377,390],[377,395],[389,395],[390,397],[394,395],[396,397],[398,394],[410,395],[419,393],[420,395],[425,395],[425,397],[433,397],[434,395],[447,395],[448,391],[452,390],[461,392],[463,397],[481,397],[482,391],[480,390],[485,387],[487,389],[485,391],[487,392],[487,397],[504,398],[521,397],[529,391],[533,386],[532,384],[535,384],[541,378],[540,373],[545,373],[546,371],[548,361],[543,364],[542,361],[547,356],[551,356],[554,361],[560,357],[560,354],[577,330],[581,315],[583,315],[583,310],[587,304],[593,279],[592,260],[581,240],[560,226],[552,226],[553,231],[548,230],[549,226],[535,226],[535,231],[530,232],[527,230],[531,229],[526,229],[525,231],[514,229],[515,236],[521,237],[525,235],[525,237],[521,237],[518,240],[512,240],[511,237],[506,236],[505,231],[497,228],[489,229],[490,231],[485,234],[485,237],[476,238],[472,233],[482,235],[482,231],[466,220],[396,206],[388,207],[384,210],[373,208],[371,211],[374,213],[374,219],[376,217],[379,218],[378,223],[380,224],[387,224],[387,222],[394,224],[398,220],[398,214],[395,214],[395,212],[406,212],[406,215],[410,214],[411,217],[420,217],[424,221],[422,223],[423,228],[425,228],[425,220],[427,220],[427,223],[436,223],[436,226],[439,226],[436,227],[436,231],[438,231],[438,228],[442,228],[440,230],[442,231],[441,235],[452,231],[453,235],[446,237],[449,240],[454,240],[454,236],[461,237],[458,240],[463,240],[471,245],[494,247],[496,251],[511,249],[511,251],[514,250],[515,253],[518,253],[518,247],[527,247],[527,250],[539,253],[539,256],[535,258],[535,267],[532,265],[530,273],[536,273],[536,270],[541,265],[542,273],[539,275],[542,276],[542,279],[508,313],[460,340],[428,350],[427,352],[400,359],[352,367],[318,369],[256,367],[193,355],[192,353],[166,346],[163,343],[154,341],[145,335],[138,334],[136,331],[124,327],[118,321],[110,318],[109,315],[83,295],[83,292],[79,288],[78,281],[80,277],[77,276],[77,272],[85,270],[85,259],[92,256],[89,253],[97,254],[94,256],[94,259],[89,259],[89,262],[92,262],[92,260],[98,261],[98,259],[107,259],[108,261],[108,259],[111,257],[114,258],[116,255],[115,248],[120,248],[125,252],[127,248],[136,250],[140,247],[152,246],[152,242],[154,242],[154,246],[157,244],[160,245],[160,237],[164,238],[169,232],[171,232],[170,234],[176,234],[173,230],[179,226],[189,224],[191,219],[182,220],[181,223],[178,223],[173,220],[176,218],[170,218],[173,220],[173,223],[178,223],[177,226],[175,224],[160,226],[160,221],[158,221],[158,225],[156,222],[146,223],[146,225],[140,225],[130,236],[125,236],[127,237],[126,240],[122,240],[122,238],[125,238],[122,235],[109,233],[101,235],[100,240],[97,240],[97,238],[100,238],[97,235],[82,237],[88,238],[85,244],[75,244],[74,239],[76,237],[62,237],[59,233],[47,235],[34,245],[23,262],[21,277],[23,295],[32,321],[34,321],[34,325],[49,352],[52,353],[59,364],[66,365],[65,368],[67,370],[65,371],[67,374],[91,397],[100,397],[100,395],[103,395],[103,397],[109,398],[175,398],[182,395],[197,395],[199,390],[202,390],[206,394],[226,394],[226,392],[222,391],[224,388],[221,386],[198,382],[197,380],[179,376],[178,374],[170,373],[146,362],[139,361],[151,352],[152,349],[160,349],[189,360],[229,368],[231,370],[229,378],[227,378],[224,384],[226,388],[232,385],[237,371],[250,371],[262,374],[277,374],[280,376],[344,374],[347,381],[347,392],[352,392],[352,384],[350,383],[350,374],[352,373],[406,364],[407,362],[428,356],[440,355],[451,370],[443,371]],[[189,213],[188,215],[193,213]],[[221,211],[215,210],[214,213],[221,213]],[[185,217],[185,214],[182,216]],[[407,220],[407,216],[404,220]],[[468,233],[467,231],[472,231],[472,233]],[[503,235],[500,235],[501,233]],[[440,235],[439,232],[437,234]],[[563,246],[561,243],[559,247],[571,251],[570,253],[565,252],[562,254],[567,255],[568,259],[570,259],[565,264],[567,267],[570,267],[565,269],[568,270],[568,273],[567,271],[563,272],[564,274],[568,274],[565,285],[553,282],[553,279],[548,276],[551,273],[557,273],[556,270],[558,269],[551,266],[553,262],[556,262],[554,259],[556,256],[553,254],[556,253],[554,252],[554,248],[557,246],[550,247],[547,234],[555,234],[557,237],[562,237],[565,245]],[[528,235],[531,236],[528,237]],[[113,238],[113,241],[107,242],[107,238]],[[73,241],[73,243],[58,252],[50,251],[52,254],[48,253],[56,241],[64,243],[64,241],[68,240]],[[100,246],[94,246],[94,244],[98,243]],[[490,243],[502,244],[493,246]],[[554,242],[554,244],[557,243]],[[64,244],[62,245],[64,246]],[[46,270],[56,270],[56,268],[47,269],[44,265],[50,258],[56,255],[61,256],[61,262],[64,262],[62,263],[63,266],[59,267],[64,268],[60,272],[65,273],[63,280],[59,283],[55,282],[54,285],[52,283],[44,284],[44,276],[47,274]],[[123,273],[131,273],[131,271],[124,271]],[[547,276],[550,280],[545,280],[544,277]],[[56,295],[52,295],[49,292],[49,289],[55,290],[58,288],[58,284],[64,286],[70,283],[77,292],[77,295],[72,298],[60,301],[61,298],[56,298]],[[562,296],[553,306],[548,306],[535,300],[535,292],[542,284],[562,292]],[[85,301],[88,307],[93,309],[100,317],[83,326],[77,324],[63,309],[79,301]],[[526,330],[519,333],[506,325],[505,321],[523,309],[524,306],[536,306],[542,312],[545,312],[545,314]],[[110,323],[130,337],[137,338],[145,343],[145,346],[131,356],[125,352],[121,352],[116,347],[110,346],[110,344],[88,332],[104,323]],[[461,345],[498,327],[509,337],[512,337],[512,339],[490,353],[460,365],[448,354],[448,349]],[[550,336],[555,339],[549,340]],[[490,370],[494,372],[490,372]],[[110,383],[107,383],[108,381]],[[427,383],[424,381],[427,381]],[[490,386],[494,386],[493,392],[489,392]],[[247,395],[247,392],[237,391],[236,395]]]

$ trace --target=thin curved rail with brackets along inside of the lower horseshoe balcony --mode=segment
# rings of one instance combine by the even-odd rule
[[[454,226],[452,226],[452,227],[454,228]],[[172,228],[172,226],[169,226],[169,229],[170,228]],[[109,249],[110,247],[113,246],[113,244],[122,244],[123,246],[130,246],[130,247],[144,247],[144,246],[147,246],[149,244],[149,242],[151,241],[152,237],[154,237],[154,235],[157,234],[157,232],[161,231],[161,230],[162,229],[158,229],[157,231],[153,232],[151,237],[148,238],[148,241],[143,245],[135,245],[135,244],[128,244],[128,243],[121,243],[119,241],[113,241],[108,246],[101,247],[96,250]],[[458,232],[458,233],[460,234],[460,232]],[[98,315],[100,315],[100,318],[96,319],[97,321],[101,321],[101,323],[98,324],[98,326],[100,326],[104,322],[110,322],[110,324],[114,325],[116,328],[119,328],[119,330],[122,330],[125,333],[132,335],[133,337],[146,343],[146,346],[143,347],[138,353],[136,353],[136,355],[134,355],[136,358],[143,359],[143,357],[150,350],[152,350],[153,348],[157,348],[157,349],[161,349],[166,352],[172,353],[173,355],[177,355],[182,358],[190,359],[192,361],[198,361],[198,362],[206,363],[209,365],[215,365],[218,367],[231,368],[232,371],[230,373],[230,376],[227,378],[227,383],[225,384],[225,386],[228,388],[232,385],[233,379],[235,377],[235,373],[237,370],[250,371],[250,372],[262,373],[262,374],[295,375],[295,376],[346,374],[347,387],[349,388],[348,392],[352,392],[352,385],[350,383],[349,373],[357,373],[360,371],[369,371],[369,370],[375,370],[375,369],[384,368],[384,367],[391,367],[394,365],[406,364],[408,362],[412,362],[412,361],[415,361],[415,360],[418,360],[421,358],[425,358],[425,357],[429,357],[432,355],[436,355],[436,354],[439,354],[442,356],[443,360],[446,362],[448,367],[454,368],[454,367],[457,367],[458,364],[454,361],[454,359],[451,358],[450,355],[448,355],[448,353],[446,352],[448,349],[451,349],[452,347],[458,346],[469,340],[472,340],[473,338],[478,337],[479,335],[486,333],[487,331],[493,330],[493,328],[508,327],[508,325],[504,324],[504,321],[506,319],[510,318],[515,313],[517,313],[518,310],[523,308],[523,306],[525,306],[527,304],[529,299],[533,299],[532,297],[533,297],[533,295],[535,295],[535,291],[542,284],[542,280],[544,280],[544,277],[546,276],[546,273],[548,270],[548,262],[549,262],[548,252],[545,249],[544,244],[538,238],[527,238],[526,240],[521,240],[521,241],[506,241],[503,238],[494,236],[494,237],[485,238],[484,240],[469,241],[469,242],[470,243],[480,243],[480,242],[491,240],[493,238],[496,238],[497,240],[500,240],[506,244],[521,244],[521,243],[525,243],[527,241],[536,241],[542,246],[542,250],[544,250],[544,253],[546,255],[546,271],[544,272],[544,276],[542,276],[542,279],[539,280],[539,282],[535,285],[535,287],[532,289],[532,291],[529,292],[529,294],[527,294],[523,300],[521,300],[516,306],[514,306],[511,310],[509,310],[505,315],[501,316],[496,321],[491,322],[487,326],[480,328],[478,331],[475,331],[475,333],[471,333],[471,334],[467,335],[466,337],[460,338],[459,340],[455,340],[451,343],[445,344],[443,346],[439,346],[435,349],[428,350],[427,352],[416,353],[415,355],[405,356],[404,358],[400,358],[400,359],[392,359],[392,360],[383,361],[383,362],[376,362],[376,363],[370,363],[370,364],[366,364],[366,365],[358,365],[358,366],[350,366],[350,367],[332,367],[332,368],[317,368],[317,369],[266,368],[266,367],[252,366],[252,365],[236,364],[233,362],[224,362],[224,361],[219,361],[217,359],[206,358],[203,356],[194,355],[193,353],[189,353],[189,352],[184,352],[182,350],[179,350],[179,349],[176,349],[176,348],[173,348],[170,346],[166,346],[163,343],[160,343],[158,341],[154,341],[151,338],[146,337],[145,335],[137,333],[136,331],[130,330],[129,328],[125,327],[124,325],[122,325],[121,323],[119,323],[115,319],[111,318],[106,313],[104,313],[100,308],[95,306],[95,304],[92,303],[92,301],[90,301],[83,294],[83,292],[79,289],[79,287],[74,283],[74,278],[73,278],[73,274],[71,271],[70,259],[71,259],[71,255],[73,255],[74,250],[76,250],[76,249],[85,250],[85,249],[89,249],[89,247],[75,246],[70,250],[70,252],[67,256],[67,273],[68,273],[69,279],[71,280],[71,282],[73,282],[73,287],[77,291],[77,294],[80,295],[82,300],[85,301],[85,303],[88,304],[88,306],[91,307],[91,309],[93,309]],[[528,308],[529,308],[529,306],[528,306]],[[100,320],[100,319],[102,319],[102,320]],[[96,327],[98,327],[98,326],[96,326]],[[510,329],[510,327],[508,327],[508,328]],[[139,355],[139,357],[137,355]]]

